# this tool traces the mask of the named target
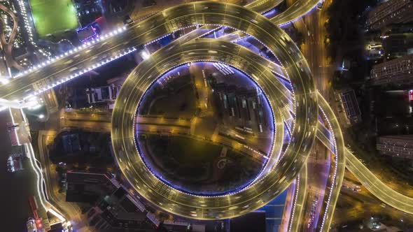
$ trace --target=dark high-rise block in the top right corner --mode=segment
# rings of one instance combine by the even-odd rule
[[[413,0],[390,0],[374,8],[367,20],[372,30],[384,29],[390,24],[413,20]]]

